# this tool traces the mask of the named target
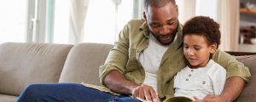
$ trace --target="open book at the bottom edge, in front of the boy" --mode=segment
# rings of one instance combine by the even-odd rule
[[[147,102],[147,100],[141,99],[139,97],[137,97],[137,99],[139,99],[142,102]],[[193,100],[189,99],[187,97],[176,96],[176,97],[167,98],[163,102],[191,102],[191,101],[193,101]]]

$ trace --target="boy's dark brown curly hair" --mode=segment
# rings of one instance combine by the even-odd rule
[[[220,31],[217,22],[207,16],[196,16],[188,20],[183,26],[183,37],[186,35],[199,35],[206,37],[208,45],[214,42],[220,44]]]

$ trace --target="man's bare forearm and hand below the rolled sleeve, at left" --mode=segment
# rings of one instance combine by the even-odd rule
[[[160,100],[154,92],[154,88],[128,81],[121,72],[116,70],[110,71],[103,80],[103,83],[119,94],[132,95],[135,98],[139,97],[153,102],[158,102]]]

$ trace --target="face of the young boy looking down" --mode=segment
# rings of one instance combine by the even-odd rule
[[[200,35],[185,35],[183,37],[183,54],[191,68],[207,65],[210,54],[214,53],[217,45],[208,45],[207,38]]]

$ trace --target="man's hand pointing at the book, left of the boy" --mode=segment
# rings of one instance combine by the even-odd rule
[[[137,88],[133,88],[132,96],[134,98],[146,99],[147,102],[160,102],[158,95],[155,93],[154,88],[148,85],[140,85]]]

